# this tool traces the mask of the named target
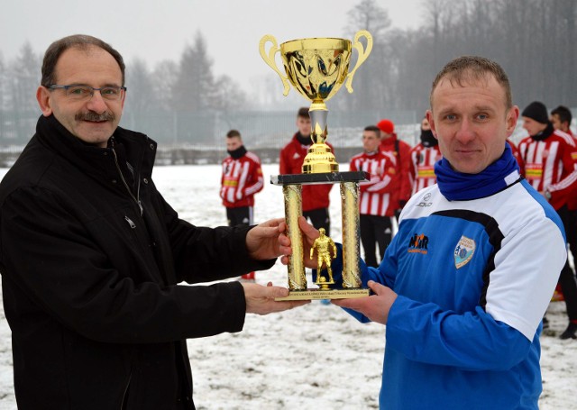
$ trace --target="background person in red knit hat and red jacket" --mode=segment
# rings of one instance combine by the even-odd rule
[[[407,142],[398,139],[395,132],[395,124],[392,121],[388,119],[380,120],[377,123],[377,127],[380,129],[380,150],[394,155],[396,159],[395,178],[397,181],[394,185],[397,187],[397,191],[391,196],[391,201],[395,207],[395,216],[398,219],[398,214],[407,204],[412,191],[409,179],[411,146]]]

